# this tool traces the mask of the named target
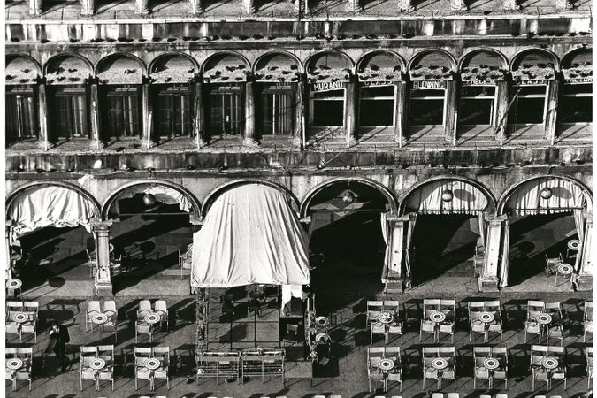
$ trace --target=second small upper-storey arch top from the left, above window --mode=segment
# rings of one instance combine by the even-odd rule
[[[96,75],[91,61],[73,52],[50,57],[43,73],[48,84],[82,84],[89,76]]]

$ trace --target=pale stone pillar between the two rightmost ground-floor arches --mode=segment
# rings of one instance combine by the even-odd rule
[[[500,256],[502,253],[502,226],[506,222],[506,219],[506,216],[488,216],[486,218],[485,256],[483,258],[481,274],[478,277],[478,288],[482,292],[498,291],[498,283],[500,281],[498,272],[500,270]]]

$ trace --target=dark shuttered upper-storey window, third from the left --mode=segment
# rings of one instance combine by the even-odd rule
[[[103,88],[103,129],[110,137],[141,135],[139,88],[106,86]]]

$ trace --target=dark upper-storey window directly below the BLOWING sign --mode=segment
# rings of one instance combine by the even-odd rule
[[[410,126],[442,126],[444,124],[444,90],[410,91]]]

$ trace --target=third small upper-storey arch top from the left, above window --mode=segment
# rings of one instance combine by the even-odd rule
[[[96,76],[104,84],[141,84],[146,75],[142,59],[127,52],[107,55],[96,63]]]

